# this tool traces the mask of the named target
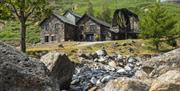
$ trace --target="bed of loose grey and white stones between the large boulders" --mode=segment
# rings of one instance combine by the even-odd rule
[[[90,88],[103,88],[110,80],[119,77],[132,78],[141,67],[139,57],[127,57],[120,54],[108,55],[106,50],[94,54],[79,54],[83,65],[76,67],[71,87],[77,91]]]

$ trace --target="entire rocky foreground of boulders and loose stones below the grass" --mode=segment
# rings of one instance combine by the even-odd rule
[[[64,53],[33,60],[0,42],[0,91],[180,91],[180,49],[152,57]]]

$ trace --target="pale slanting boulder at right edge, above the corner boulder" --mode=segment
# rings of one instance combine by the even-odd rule
[[[180,48],[142,62],[143,71],[154,78],[178,67],[180,67]]]

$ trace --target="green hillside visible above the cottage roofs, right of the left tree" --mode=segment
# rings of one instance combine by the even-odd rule
[[[111,9],[111,16],[115,9],[118,8],[128,8],[133,12],[137,13],[139,16],[142,15],[142,11],[146,7],[150,7],[156,0],[55,0],[58,10],[63,13],[68,9],[72,9],[76,13],[83,15],[87,11],[88,1],[93,5],[94,15],[97,17],[98,13],[102,12],[103,7]],[[163,3],[172,14],[176,14],[180,17],[180,5]],[[59,9],[59,7],[61,9]],[[62,10],[63,9],[63,10]],[[59,11],[59,12],[60,12]],[[174,13],[176,12],[176,13]]]

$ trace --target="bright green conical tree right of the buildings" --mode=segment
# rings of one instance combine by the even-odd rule
[[[140,37],[151,39],[150,42],[159,50],[162,42],[172,41],[179,36],[180,31],[175,28],[177,21],[172,17],[160,3],[156,3],[141,19]]]

